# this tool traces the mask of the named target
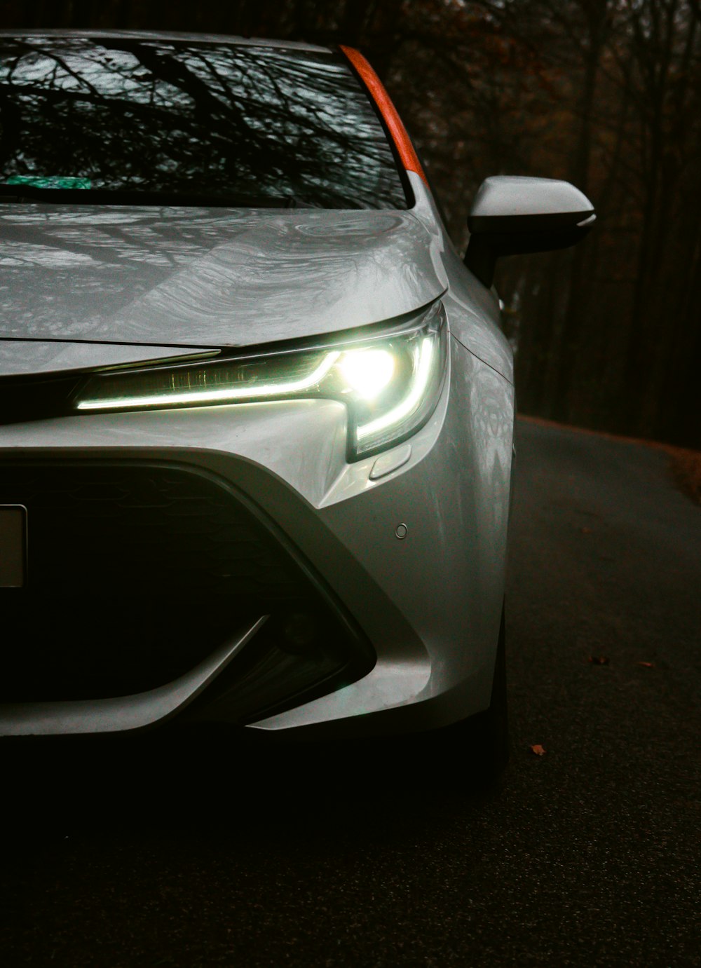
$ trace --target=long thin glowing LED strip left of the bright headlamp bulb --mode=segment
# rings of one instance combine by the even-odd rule
[[[317,369],[307,377],[290,380],[287,383],[267,383],[259,387],[255,384],[242,387],[222,387],[217,390],[183,390],[178,393],[141,394],[137,397],[112,397],[105,400],[81,400],[79,410],[111,410],[139,407],[168,407],[173,404],[226,404],[234,400],[252,400],[259,397],[280,397],[289,393],[309,390],[326,376],[341,355],[339,350],[326,353]]]

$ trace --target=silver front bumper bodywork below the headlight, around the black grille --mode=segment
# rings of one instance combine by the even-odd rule
[[[306,563],[334,620],[347,622],[352,634],[344,652],[350,665],[340,678],[316,683],[311,696],[278,697],[278,705],[258,718],[255,704],[242,703],[230,673],[237,656],[252,649],[259,629],[251,632],[251,626],[268,614],[264,609],[251,614],[248,625],[232,616],[227,641],[195,656],[198,661],[179,676],[147,681],[148,688],[134,686],[126,696],[42,697],[30,689],[17,701],[10,693],[0,705],[2,732],[101,732],[189,718],[245,722],[248,729],[278,734],[343,735],[441,726],[485,709],[503,598],[513,398],[509,383],[451,344],[453,363],[439,407],[411,439],[411,453],[402,444],[381,455],[379,469],[376,457],[346,462],[345,408],[333,401],[72,416],[3,427],[0,462],[7,466],[147,461],[224,482],[272,523],[297,564]],[[133,594],[129,582],[124,594],[126,600]],[[78,593],[77,622],[81,601]],[[82,619],[89,614],[85,603]],[[90,624],[99,655],[102,626],[94,610]],[[139,635],[134,628],[129,634]],[[14,639],[6,649],[26,650],[18,641],[20,627]],[[118,636],[112,648],[118,650]],[[160,706],[157,697],[150,706],[143,698],[154,690],[162,690]],[[137,706],[139,714],[119,718],[120,710]]]

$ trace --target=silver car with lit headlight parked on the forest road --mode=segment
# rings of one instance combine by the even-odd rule
[[[5,33],[0,85],[0,732],[503,756],[494,266],[591,202],[488,178],[462,259],[344,47]]]

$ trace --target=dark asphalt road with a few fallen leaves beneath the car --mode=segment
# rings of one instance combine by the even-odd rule
[[[700,965],[701,509],[639,444],[521,422],[518,462],[500,782],[6,752],[3,964]]]

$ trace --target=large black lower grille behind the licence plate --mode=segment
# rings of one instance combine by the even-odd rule
[[[260,615],[327,603],[219,478],[130,463],[0,465],[23,504],[28,581],[0,590],[0,701],[127,695],[171,681]]]

